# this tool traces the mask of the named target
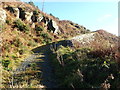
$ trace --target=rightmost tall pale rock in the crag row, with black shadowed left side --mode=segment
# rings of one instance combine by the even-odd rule
[[[52,19],[48,22],[47,26],[48,30],[51,30],[54,34],[58,34],[60,31],[57,23]]]

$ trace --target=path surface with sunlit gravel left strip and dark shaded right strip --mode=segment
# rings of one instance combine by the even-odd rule
[[[49,58],[49,46],[44,45],[33,50],[34,54],[29,56],[21,63],[21,65],[14,71],[14,76],[20,72],[26,71],[29,68],[30,63],[34,63],[37,59],[40,59],[37,62],[37,66],[40,67],[40,71],[42,71],[41,76],[41,84],[46,88],[55,88],[56,87],[56,80],[53,72],[53,67],[50,63]]]

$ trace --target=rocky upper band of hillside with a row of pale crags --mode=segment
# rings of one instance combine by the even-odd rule
[[[54,35],[64,34],[64,38],[67,36],[76,36],[81,33],[86,33],[85,27],[71,21],[60,21],[56,17],[45,14],[32,5],[22,2],[6,2],[2,4],[2,8],[6,10],[7,15],[8,13],[11,13],[11,17],[14,17],[12,19],[21,19],[23,22],[28,21],[26,23],[29,23],[32,28],[35,28],[35,25],[38,24],[51,33],[54,33]]]

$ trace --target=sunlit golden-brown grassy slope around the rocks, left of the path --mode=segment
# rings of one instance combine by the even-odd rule
[[[11,6],[19,6],[16,3],[8,3]],[[34,7],[25,4],[25,7],[31,8],[33,11],[35,10]],[[7,10],[6,10],[7,11]],[[63,33],[60,35],[54,35],[50,33],[46,27],[43,27],[41,24],[35,23],[37,26],[42,27],[42,31],[36,31],[31,27],[31,24],[27,21],[21,21],[27,27],[28,31],[20,31],[18,27],[13,27],[15,25],[15,16],[14,14],[7,11],[7,22],[5,23],[1,36],[3,40],[2,45],[2,62],[3,62],[3,78],[4,78],[4,85],[8,85],[8,81],[12,81],[12,70],[16,69],[22,61],[25,60],[27,56],[31,54],[31,49],[45,45],[50,42],[56,42],[60,40],[64,40],[69,37],[73,37],[79,34],[88,33],[85,27],[80,29],[76,28],[77,24],[70,22],[70,21],[59,21],[53,16],[47,15],[40,10],[45,17],[49,17],[54,21],[58,22],[58,26],[62,29]],[[44,24],[44,23],[43,23]],[[51,39],[49,41],[49,38]],[[34,67],[31,67],[34,71]],[[33,72],[32,71],[32,72]],[[24,73],[24,72],[23,72]],[[32,74],[32,73],[31,73]],[[24,74],[20,74],[24,75]],[[19,76],[20,76],[19,75]],[[39,76],[38,76],[39,77]],[[25,77],[24,77],[25,78]],[[18,79],[19,80],[19,79]],[[35,81],[37,82],[37,81]],[[26,82],[23,82],[24,84]],[[36,86],[36,85],[35,85]],[[9,87],[9,86],[8,86]],[[28,87],[26,85],[26,87]],[[34,85],[33,85],[34,87]]]

